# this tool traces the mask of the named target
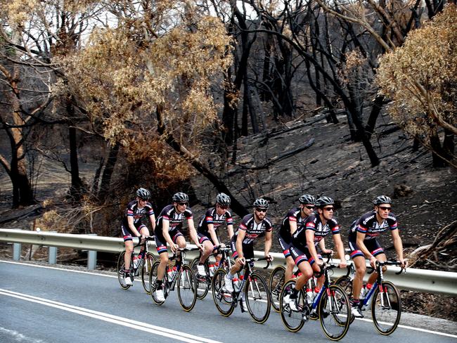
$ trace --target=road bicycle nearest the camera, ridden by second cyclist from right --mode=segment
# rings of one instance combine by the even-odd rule
[[[328,257],[321,266],[321,273],[316,275],[319,278],[324,276],[324,283],[314,299],[307,299],[307,293],[303,288],[298,292],[296,299],[297,311],[290,308],[289,297],[292,288],[295,287],[295,280],[289,280],[283,286],[279,300],[281,319],[291,332],[300,330],[309,318],[319,318],[324,334],[333,341],[345,337],[349,329],[349,313],[351,307],[345,290],[338,285],[330,284],[329,271],[337,265],[330,263],[331,254],[322,254]]]

